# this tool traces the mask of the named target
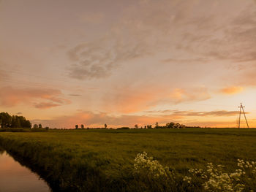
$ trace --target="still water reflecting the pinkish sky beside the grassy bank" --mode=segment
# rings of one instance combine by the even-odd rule
[[[50,192],[45,180],[0,149],[0,192]]]

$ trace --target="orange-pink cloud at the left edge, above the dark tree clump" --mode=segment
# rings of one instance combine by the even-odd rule
[[[39,109],[47,109],[71,103],[62,97],[61,91],[56,89],[2,87],[0,104],[4,107],[29,104]]]

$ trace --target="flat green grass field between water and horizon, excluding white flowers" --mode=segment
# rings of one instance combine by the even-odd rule
[[[256,129],[242,128],[0,132],[0,145],[58,191],[202,191],[182,182],[190,168],[212,162],[231,171],[238,158],[256,161]],[[143,151],[176,172],[176,186],[135,177],[134,160]]]

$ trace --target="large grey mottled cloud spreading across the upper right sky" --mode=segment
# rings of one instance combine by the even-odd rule
[[[255,4],[232,2],[161,0],[131,5],[104,37],[69,49],[69,77],[109,77],[126,61],[158,53],[168,53],[162,61],[176,64],[233,61],[225,65],[235,67],[255,61]]]

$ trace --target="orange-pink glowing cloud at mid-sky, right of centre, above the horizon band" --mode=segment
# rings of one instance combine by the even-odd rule
[[[119,89],[116,93],[104,96],[104,110],[111,112],[139,112],[158,104],[179,104],[183,102],[204,101],[210,99],[207,88],[160,88],[142,86],[140,88]]]

